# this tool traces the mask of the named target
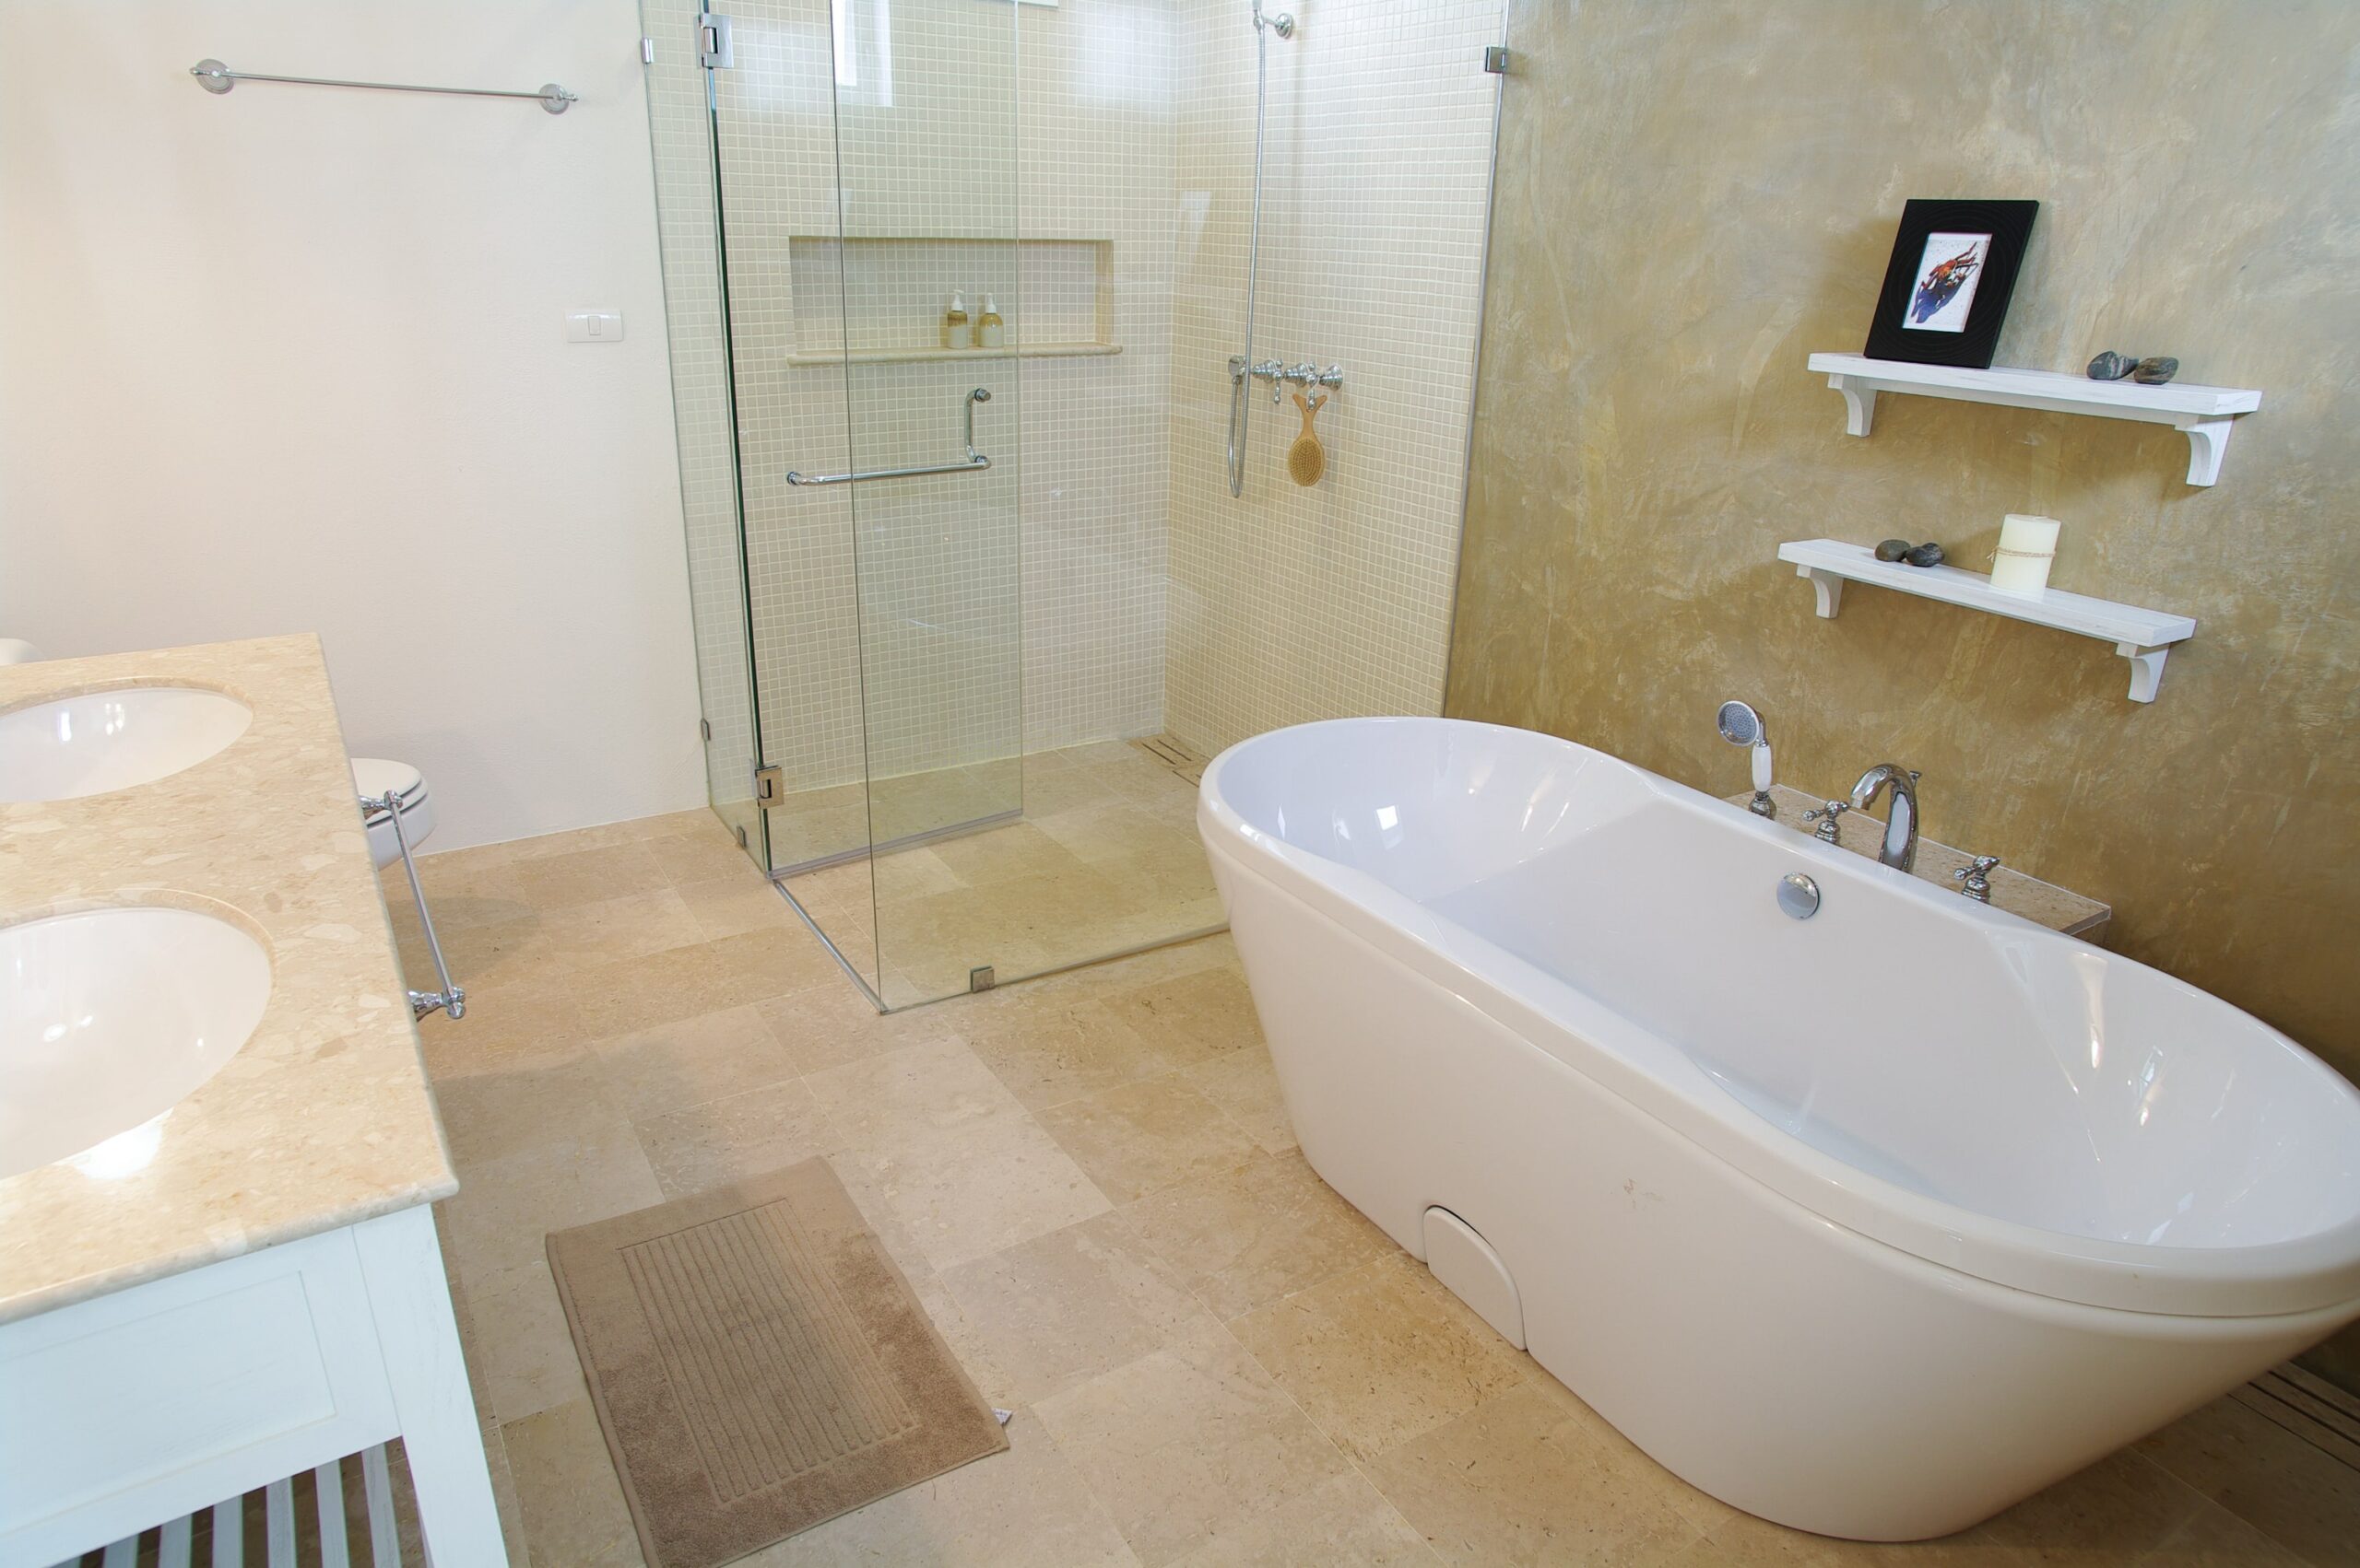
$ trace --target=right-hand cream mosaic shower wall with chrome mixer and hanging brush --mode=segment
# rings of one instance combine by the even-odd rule
[[[1277,7],[1272,7],[1277,9]],[[1258,384],[1230,498],[1227,361],[1244,349],[1253,28],[1180,5],[1166,729],[1218,752],[1305,719],[1442,712],[1482,318],[1501,0],[1293,5],[1270,40],[1256,358],[1340,363],[1326,479]]]

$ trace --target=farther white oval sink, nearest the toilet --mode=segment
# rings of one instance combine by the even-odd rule
[[[118,686],[0,714],[0,799],[73,799],[170,778],[245,733],[255,712],[196,686]]]

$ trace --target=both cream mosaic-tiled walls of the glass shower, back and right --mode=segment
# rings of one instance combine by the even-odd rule
[[[1501,0],[1296,9],[1296,38],[1272,42],[1256,354],[1343,363],[1348,382],[1310,490],[1284,469],[1300,417],[1263,389],[1241,500],[1222,479],[1253,179],[1241,0],[732,9],[715,134],[739,483],[765,759],[791,797],[1017,750],[1171,731],[1211,752],[1440,710],[1496,111],[1480,57]],[[687,24],[661,14],[677,38],[658,47],[658,177],[701,196]],[[706,266],[670,205],[689,203],[668,196],[668,266]],[[939,354],[951,290],[970,314],[994,295],[1010,354]],[[675,332],[710,330],[717,304],[717,283],[684,290]],[[696,450],[725,450],[703,429],[729,413],[708,358],[680,373],[684,453],[691,422]],[[786,483],[961,455],[975,387],[989,474]],[[741,618],[717,597],[734,540],[710,483],[727,474],[684,467],[691,509],[715,514],[691,535],[701,667],[727,693]],[[861,816],[774,811],[774,863],[857,849]]]

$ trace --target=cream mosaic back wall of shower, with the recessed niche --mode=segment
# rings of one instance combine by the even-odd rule
[[[769,762],[802,792],[1152,733],[1168,7],[732,14],[720,172]],[[911,358],[953,290],[977,316],[994,295],[1024,356]],[[972,387],[991,472],[786,483],[958,457]]]

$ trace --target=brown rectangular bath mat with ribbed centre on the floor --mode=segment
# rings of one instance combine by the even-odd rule
[[[649,1568],[715,1568],[1008,1448],[826,1160],[550,1236]]]

